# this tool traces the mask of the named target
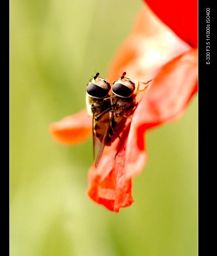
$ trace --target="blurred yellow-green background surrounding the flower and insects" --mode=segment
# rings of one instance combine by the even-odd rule
[[[134,203],[109,212],[86,197],[91,138],[55,143],[51,122],[85,108],[142,1],[10,1],[11,256],[197,255],[197,97],[146,135]]]

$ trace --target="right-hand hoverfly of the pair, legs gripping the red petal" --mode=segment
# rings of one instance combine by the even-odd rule
[[[111,145],[111,143],[117,139],[117,137],[121,141],[120,133],[123,131],[127,119],[132,116],[138,105],[136,100],[137,93],[145,91],[148,88],[149,82],[151,81],[149,80],[146,83],[139,82],[137,90],[135,91],[134,82],[125,76],[126,72],[123,72],[120,79],[114,81],[110,97],[105,97],[103,99],[105,102],[106,100],[110,99],[112,113],[109,119],[108,127],[106,128],[106,132],[100,145],[95,167],[98,166],[105,145]],[[142,90],[139,90],[140,83],[146,85]],[[119,150],[117,150],[117,153],[118,151]]]

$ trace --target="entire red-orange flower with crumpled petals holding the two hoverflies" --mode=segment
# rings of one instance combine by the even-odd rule
[[[111,84],[123,70],[136,84],[154,79],[126,123],[121,134],[123,145],[119,146],[117,139],[105,147],[98,167],[93,164],[89,169],[89,197],[115,212],[133,202],[132,177],[143,170],[147,161],[146,130],[179,118],[197,91],[196,0],[147,2],[179,37],[145,6],[110,67],[107,79]],[[189,9],[191,15],[186,18]],[[50,132],[56,140],[73,144],[86,140],[91,125],[91,118],[81,111],[51,124]],[[117,148],[120,151],[114,159]]]

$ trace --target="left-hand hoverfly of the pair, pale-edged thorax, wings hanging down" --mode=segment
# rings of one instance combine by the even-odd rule
[[[106,134],[106,129],[109,126],[109,111],[111,110],[110,101],[104,100],[110,97],[109,91],[111,90],[111,85],[108,80],[99,77],[99,75],[99,73],[96,73],[96,76],[93,77],[86,87],[86,106],[88,113],[93,116],[92,134],[94,159],[96,151],[100,148]]]

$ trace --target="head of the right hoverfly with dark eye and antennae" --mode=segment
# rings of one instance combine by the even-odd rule
[[[135,90],[135,84],[130,79],[124,77],[126,72],[123,73],[123,76],[114,81],[112,86],[112,91],[115,95],[123,98],[131,96]]]

